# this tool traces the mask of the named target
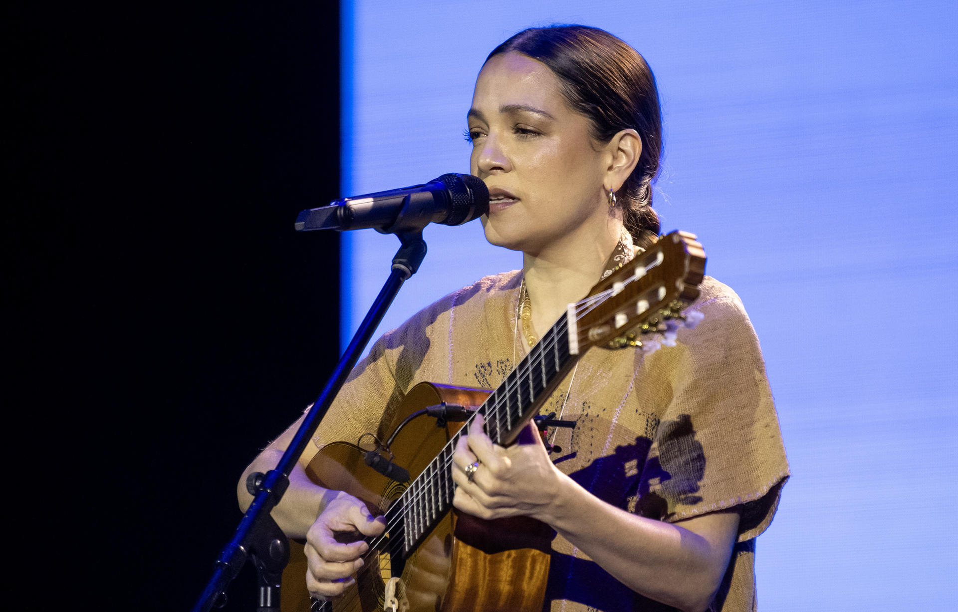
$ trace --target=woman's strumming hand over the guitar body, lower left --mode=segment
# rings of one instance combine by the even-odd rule
[[[306,534],[309,594],[321,600],[342,595],[363,566],[359,555],[369,550],[363,538],[379,535],[385,528],[382,516],[374,517],[366,504],[339,491]]]

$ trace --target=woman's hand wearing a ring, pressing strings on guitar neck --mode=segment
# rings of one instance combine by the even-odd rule
[[[476,415],[456,445],[452,505],[485,519],[524,515],[548,523],[563,474],[549,460],[536,425],[530,421],[512,446],[503,447],[492,443],[484,422]]]

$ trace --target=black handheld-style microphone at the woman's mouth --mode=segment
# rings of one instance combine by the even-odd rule
[[[489,189],[471,174],[443,174],[424,185],[333,200],[301,211],[296,231],[362,230],[382,234],[422,231],[429,223],[461,225],[489,213]]]

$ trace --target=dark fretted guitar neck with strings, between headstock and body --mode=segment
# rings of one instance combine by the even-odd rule
[[[571,333],[570,321],[573,326]],[[579,361],[579,356],[575,319],[563,316],[543,334],[532,351],[519,361],[479,408],[485,416],[486,433],[492,442],[502,446],[513,443],[529,419]],[[386,512],[389,524],[400,519],[401,515],[404,526],[401,537],[407,555],[416,550],[422,538],[452,507],[455,492],[452,454],[467,431],[468,423],[453,435]]]

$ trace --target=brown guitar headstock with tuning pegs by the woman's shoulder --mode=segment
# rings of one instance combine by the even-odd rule
[[[673,346],[677,329],[693,328],[702,318],[682,309],[698,297],[704,276],[705,251],[694,234],[675,231],[659,238],[596,284],[588,297],[569,305],[572,351],[592,346],[654,351],[659,336],[661,344]]]

